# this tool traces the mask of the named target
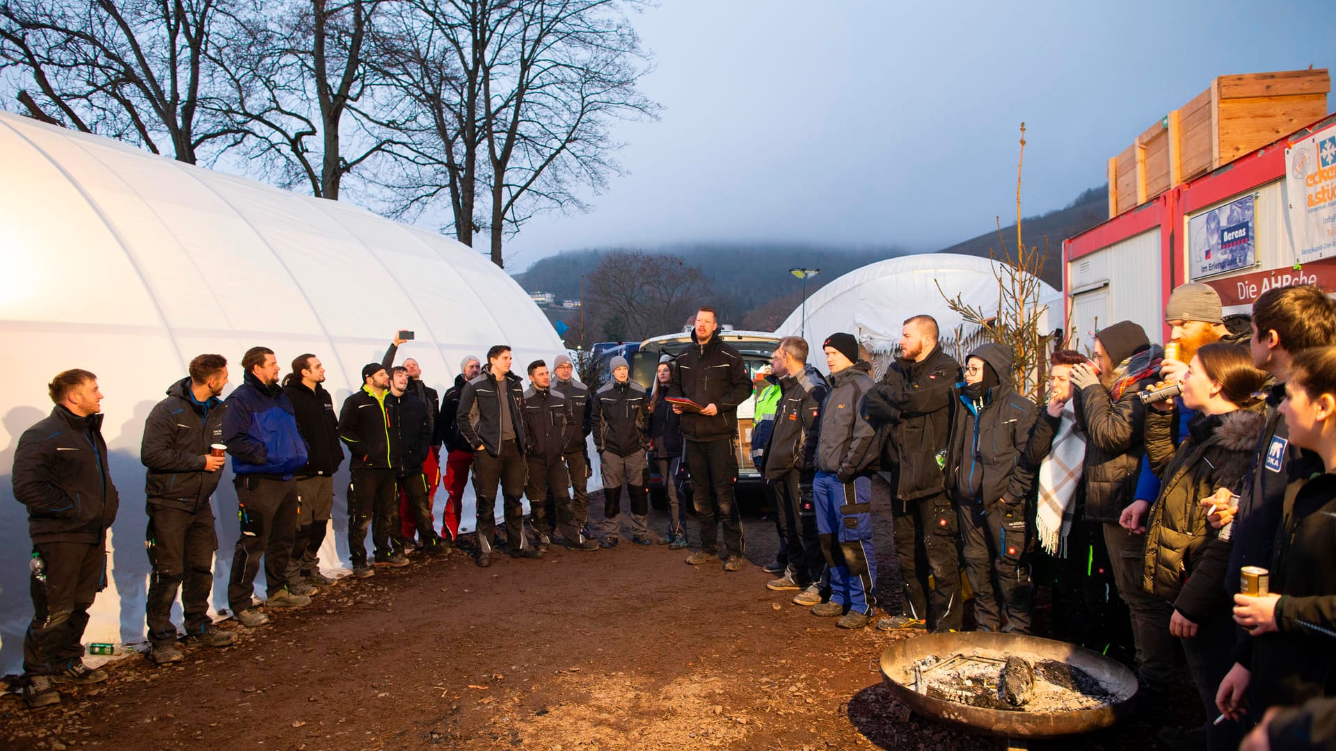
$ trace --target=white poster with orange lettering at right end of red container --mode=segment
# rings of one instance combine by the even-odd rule
[[[1289,239],[1299,261],[1336,255],[1336,126],[1285,150]]]

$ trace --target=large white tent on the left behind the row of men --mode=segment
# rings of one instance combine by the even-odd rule
[[[106,394],[103,433],[120,513],[108,533],[108,585],[84,640],[118,643],[144,633],[144,418],[195,354],[227,357],[235,386],[251,346],[273,349],[285,371],[294,357],[315,353],[338,409],[397,329],[417,333],[398,361],[415,358],[442,394],[461,358],[482,357],[493,343],[514,349],[517,369],[565,351],[510,277],[441,235],[9,114],[0,114],[0,154],[3,669],[19,667],[32,616],[13,453],[19,436],[51,412],[45,384],[57,371],[91,370]],[[325,568],[347,565],[346,478],[345,461]],[[437,525],[444,500],[442,489]],[[465,502],[472,520],[472,490]],[[226,608],[238,537],[230,469],[214,509],[212,599]]]

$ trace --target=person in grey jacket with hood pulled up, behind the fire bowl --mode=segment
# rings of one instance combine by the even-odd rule
[[[1011,351],[1003,345],[982,345],[965,359],[946,477],[959,512],[978,629],[1029,633],[1031,588],[1025,553],[1034,535],[1026,521],[1026,498],[1035,470],[1023,453],[1038,409],[1010,380]]]

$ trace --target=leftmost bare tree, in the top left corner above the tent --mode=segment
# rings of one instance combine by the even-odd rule
[[[215,0],[0,0],[4,98],[45,122],[194,164],[206,147],[236,138],[202,106],[219,8]]]

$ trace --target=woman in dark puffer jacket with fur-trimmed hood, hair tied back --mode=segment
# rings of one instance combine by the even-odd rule
[[[1246,349],[1206,345],[1197,350],[1182,381],[1182,401],[1198,414],[1189,421],[1189,434],[1177,450],[1173,414],[1153,409],[1146,416],[1146,456],[1162,484],[1146,524],[1142,585],[1173,603],[1165,628],[1181,640],[1209,716],[1216,688],[1230,667],[1234,624],[1224,585],[1229,536],[1210,527],[1202,500],[1229,504],[1242,489],[1264,420],[1257,409],[1261,401],[1253,394],[1265,378]],[[1234,723],[1208,724],[1205,731],[1209,748],[1234,748],[1242,734]]]

